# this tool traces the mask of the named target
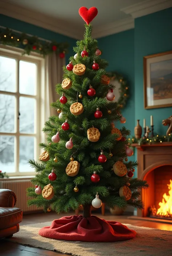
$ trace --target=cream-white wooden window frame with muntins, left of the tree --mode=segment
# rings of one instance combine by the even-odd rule
[[[5,92],[0,90],[0,94],[6,94],[16,97],[16,105],[15,105],[15,132],[14,133],[2,133],[0,135],[11,135],[15,137],[15,151],[14,151],[14,159],[15,159],[15,172],[8,172],[9,176],[33,176],[35,171],[31,172],[19,172],[19,139],[20,136],[28,136],[34,137],[34,159],[37,160],[41,153],[41,150],[38,146],[40,142],[45,142],[45,135],[42,133],[42,127],[45,122],[45,60],[42,56],[37,53],[30,53],[30,55],[22,56],[24,52],[23,49],[12,47],[12,46],[3,46],[0,45],[0,56],[14,58],[17,61],[17,69],[16,69],[16,85],[17,92]],[[36,88],[36,96],[21,94],[19,93],[19,61],[27,61],[32,62],[37,65],[37,88]],[[20,133],[19,131],[19,98],[20,97],[29,97],[36,99],[36,115],[34,120],[34,125],[36,125],[35,132],[33,134],[28,133]],[[2,170],[3,171],[3,170]]]

